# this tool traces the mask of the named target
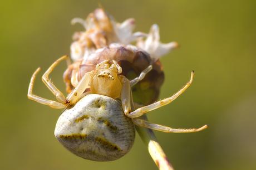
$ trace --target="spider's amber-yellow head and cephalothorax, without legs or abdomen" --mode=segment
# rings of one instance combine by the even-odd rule
[[[102,61],[96,65],[96,70],[92,71],[94,75],[90,87],[92,94],[100,94],[116,99],[120,97],[122,84],[121,77],[118,74],[122,73],[122,68],[115,60]]]

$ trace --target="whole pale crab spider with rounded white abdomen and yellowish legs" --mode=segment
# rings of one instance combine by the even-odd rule
[[[40,68],[32,75],[28,99],[55,109],[66,108],[57,121],[55,136],[77,156],[93,161],[112,161],[120,158],[129,152],[134,143],[134,125],[173,133],[198,132],[208,127],[205,125],[200,128],[175,129],[140,119],[141,115],[169,104],[188,89],[193,81],[194,71],[190,81],[173,96],[134,110],[131,87],[149,73],[152,65],[147,66],[137,78],[130,81],[119,75],[122,68],[115,60],[104,60],[96,65],[95,70],[86,73],[75,89],[65,97],[48,77],[65,59],[68,57],[62,56],[56,60],[42,76],[43,83],[55,95],[57,101],[33,94],[34,82]],[[89,88],[90,91],[86,91]]]

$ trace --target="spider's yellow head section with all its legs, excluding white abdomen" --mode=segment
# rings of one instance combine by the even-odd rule
[[[130,81],[126,79],[125,76],[118,75],[122,73],[122,68],[119,66],[119,64],[116,63],[115,60],[112,60],[112,64],[110,60],[102,61],[100,64],[96,65],[96,70],[86,73],[80,80],[78,85],[75,87],[75,89],[73,89],[73,91],[65,98],[63,93],[60,90],[58,90],[57,87],[48,78],[53,69],[62,60],[65,59],[68,59],[67,55],[57,59],[42,76],[43,83],[45,83],[48,89],[50,89],[50,91],[56,96],[57,101],[44,99],[40,96],[33,94],[32,90],[34,82],[36,79],[36,75],[41,70],[40,68],[38,68],[32,75],[28,87],[28,99],[34,100],[43,105],[48,105],[54,109],[62,109],[68,106],[75,105],[76,102],[81,99],[81,96],[85,96],[83,92],[90,87],[91,91],[87,92],[86,95],[100,94],[112,97],[113,99],[120,98],[124,114],[127,117],[130,117],[132,121],[138,126],[152,128],[154,130],[159,130],[163,132],[174,133],[198,132],[208,127],[207,125],[204,125],[200,128],[174,129],[150,123],[145,120],[137,119],[137,117],[146,114],[151,110],[155,110],[161,106],[169,104],[170,102],[174,101],[178,96],[180,96],[191,85],[194,78],[194,71],[191,72],[189,82],[182,89],[176,92],[173,96],[157,101],[154,104],[140,107],[139,109],[131,111],[131,102],[133,102],[131,97],[131,87],[138,83],[140,80],[142,80],[145,77],[145,75],[149,73],[149,71],[152,69],[151,65],[149,65],[144,71],[142,71],[137,78]]]

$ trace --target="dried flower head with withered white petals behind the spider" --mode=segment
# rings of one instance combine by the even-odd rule
[[[152,64],[153,69],[132,88],[132,94],[137,104],[147,105],[157,99],[164,81],[159,58],[178,47],[176,42],[161,43],[156,24],[152,25],[149,34],[132,33],[135,27],[133,18],[116,23],[101,8],[90,13],[85,20],[74,18],[72,24],[75,23],[81,23],[86,30],[73,35],[71,58],[75,62],[63,75],[67,92],[71,92],[82,76],[94,70],[98,63],[114,59],[122,67],[122,75],[129,80]],[[135,40],[136,46],[130,45]]]

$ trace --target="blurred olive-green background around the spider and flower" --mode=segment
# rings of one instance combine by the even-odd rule
[[[256,169],[255,1],[4,1],[0,6],[0,169],[157,169],[139,136],[126,156],[92,162],[63,148],[53,135],[61,110],[27,99],[33,71],[45,71],[70,53],[74,17],[85,18],[98,2],[118,22],[136,19],[136,31],[160,26],[161,41],[181,47],[161,59],[168,97],[193,85],[172,104],[148,114],[174,128],[202,132],[156,132],[175,169]],[[61,64],[51,78],[62,91]],[[42,72],[43,72],[42,71]],[[41,73],[42,74],[42,73]],[[53,99],[40,78],[35,94]]]

